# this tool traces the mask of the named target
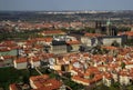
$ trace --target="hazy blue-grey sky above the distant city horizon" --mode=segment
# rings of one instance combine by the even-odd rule
[[[0,10],[133,10],[133,0],[0,0]]]

